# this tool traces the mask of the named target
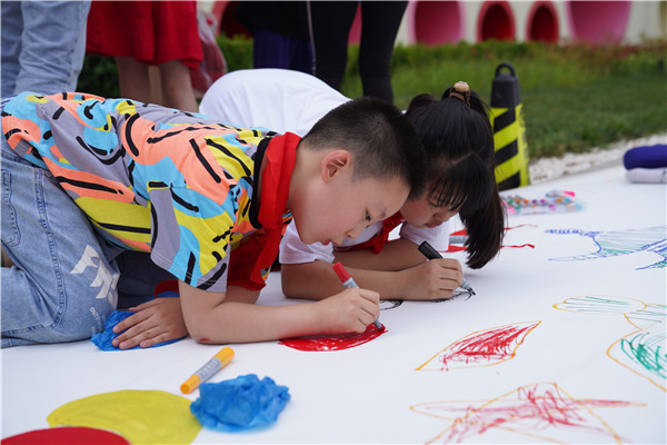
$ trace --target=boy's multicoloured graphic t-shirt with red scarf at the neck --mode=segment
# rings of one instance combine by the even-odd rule
[[[201,289],[263,286],[291,219],[285,206],[296,135],[128,99],[31,92],[6,105],[2,129],[109,243],[150,251],[158,266]]]

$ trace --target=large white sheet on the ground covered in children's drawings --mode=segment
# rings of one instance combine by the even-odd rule
[[[571,190],[586,210],[509,218],[505,245],[534,247],[464,268],[469,299],[385,303],[388,332],[346,350],[231,345],[235,359],[211,382],[269,376],[291,400],[269,428],[202,429],[195,443],[665,443],[666,187],[624,174],[512,190]],[[259,304],[301,303],[282,296],[279,278]],[[53,409],[93,394],[180,395],[219,348],[187,338],[130,352],[90,342],[3,349],[2,437],[46,428]]]

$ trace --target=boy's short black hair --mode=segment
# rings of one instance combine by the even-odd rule
[[[401,178],[408,199],[424,191],[426,157],[420,139],[405,115],[385,100],[362,97],[326,113],[303,137],[313,149],[339,148],[354,159],[354,179]]]

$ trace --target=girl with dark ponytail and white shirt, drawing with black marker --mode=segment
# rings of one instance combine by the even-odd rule
[[[307,132],[329,107],[347,100],[312,76],[255,69],[218,79],[205,95],[200,111],[237,126]],[[305,245],[291,224],[279,256],[286,296],[323,299],[337,294],[341,284],[331,265],[341,261],[360,287],[378,291],[382,299],[449,298],[462,281],[460,263],[454,258],[427,261],[417,246],[426,240],[436,250],[447,250],[448,221],[457,214],[468,235],[470,268],[481,268],[498,254],[505,211],[494,176],[487,106],[466,82],[457,82],[441,99],[415,97],[406,116],[426,149],[427,190],[354,237]],[[398,226],[399,237],[389,240],[389,233]]]

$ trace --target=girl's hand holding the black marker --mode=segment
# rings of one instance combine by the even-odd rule
[[[437,258],[401,270],[406,299],[450,298],[464,280],[461,264],[452,258]]]

